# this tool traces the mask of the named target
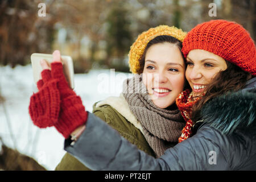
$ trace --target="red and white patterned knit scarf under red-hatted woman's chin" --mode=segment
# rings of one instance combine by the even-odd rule
[[[187,89],[184,90],[179,94],[179,96],[176,98],[176,104],[179,110],[181,111],[181,115],[186,121],[186,125],[181,131],[181,136],[179,137],[179,143],[183,140],[189,138],[192,134],[192,127],[193,122],[189,118],[189,115],[192,111],[192,106],[200,99],[200,97],[197,97],[196,99],[192,100],[192,92],[191,90]]]

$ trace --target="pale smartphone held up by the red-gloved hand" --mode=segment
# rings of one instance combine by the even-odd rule
[[[32,53],[31,55],[31,65],[35,84],[42,78],[41,72],[43,71],[43,68],[40,64],[40,60],[42,59],[46,60],[48,65],[51,65],[53,56],[46,53]],[[61,62],[63,64],[63,72],[66,80],[68,81],[69,87],[74,89],[74,69],[71,56],[61,56]]]

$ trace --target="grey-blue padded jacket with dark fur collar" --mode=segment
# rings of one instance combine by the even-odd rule
[[[256,170],[256,78],[202,110],[193,137],[159,159],[140,151],[100,118],[89,114],[86,130],[64,149],[94,170]]]

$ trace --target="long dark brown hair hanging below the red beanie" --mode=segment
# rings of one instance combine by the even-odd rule
[[[245,87],[246,81],[253,77],[250,73],[243,71],[237,65],[226,61],[228,68],[220,71],[212,82],[205,88],[205,95],[192,106],[191,120],[195,123],[201,119],[202,107],[212,98],[229,92],[236,92]]]

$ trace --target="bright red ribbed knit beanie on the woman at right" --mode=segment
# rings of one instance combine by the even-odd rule
[[[192,49],[212,52],[256,76],[256,49],[249,32],[236,22],[210,20],[188,32],[182,52],[186,58]]]

